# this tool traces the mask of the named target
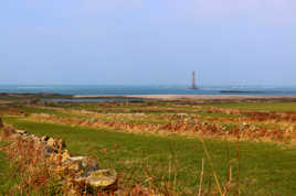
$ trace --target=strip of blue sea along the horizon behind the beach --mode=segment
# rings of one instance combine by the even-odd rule
[[[235,90],[235,92],[221,92]],[[236,91],[239,90],[239,91]],[[296,95],[296,87],[203,86],[20,86],[0,85],[0,92],[55,92],[66,95]]]

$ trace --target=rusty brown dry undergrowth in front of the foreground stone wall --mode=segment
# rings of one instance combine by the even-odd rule
[[[10,144],[1,149],[10,161],[10,177],[18,179],[18,184],[10,188],[7,195],[123,195],[150,196],[157,190],[146,188],[140,184],[121,187],[118,179],[115,184],[104,187],[94,187],[81,176],[82,168],[76,162],[67,163],[62,140],[55,140],[55,149],[44,145],[42,139],[30,135],[24,131],[15,130],[11,126],[2,129],[0,139]],[[87,170],[93,164],[88,159]],[[104,179],[106,181],[106,179]]]

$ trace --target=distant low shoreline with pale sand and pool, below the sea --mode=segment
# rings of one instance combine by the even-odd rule
[[[191,102],[287,102],[295,101],[296,95],[62,95],[62,94],[0,94],[0,101],[191,101]]]

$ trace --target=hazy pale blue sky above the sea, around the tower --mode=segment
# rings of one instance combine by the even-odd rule
[[[0,84],[296,86],[295,0],[6,0]]]

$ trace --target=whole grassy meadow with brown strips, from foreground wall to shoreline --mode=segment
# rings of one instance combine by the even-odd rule
[[[115,168],[121,187],[140,184],[165,195],[198,195],[200,189],[202,195],[221,195],[219,184],[222,189],[229,189],[229,195],[296,194],[296,148],[293,134],[281,140],[264,134],[257,140],[255,137],[244,139],[244,135],[239,137],[237,133],[237,141],[234,134],[222,134],[215,130],[251,131],[254,127],[260,131],[260,127],[264,126],[272,127],[264,131],[273,133],[275,126],[278,131],[294,128],[295,122],[287,120],[286,116],[257,120],[244,111],[290,113],[296,111],[296,102],[18,104],[1,109],[4,123],[39,137],[62,138],[71,154],[89,155],[96,157],[102,167]],[[239,109],[242,113],[229,112],[232,109]],[[44,113],[49,117],[44,118]],[[98,122],[89,124],[94,120]],[[176,122],[178,129],[162,128],[168,122]],[[242,128],[240,124],[245,122],[251,126]],[[207,134],[208,130],[191,131],[195,123],[204,123],[200,129],[209,129],[211,133]],[[149,131],[151,126],[159,126],[161,131]],[[137,129],[142,130],[139,132]],[[166,131],[170,134],[163,134]],[[15,184],[11,183],[13,181],[7,174],[8,165],[6,155],[0,153],[2,194]]]

